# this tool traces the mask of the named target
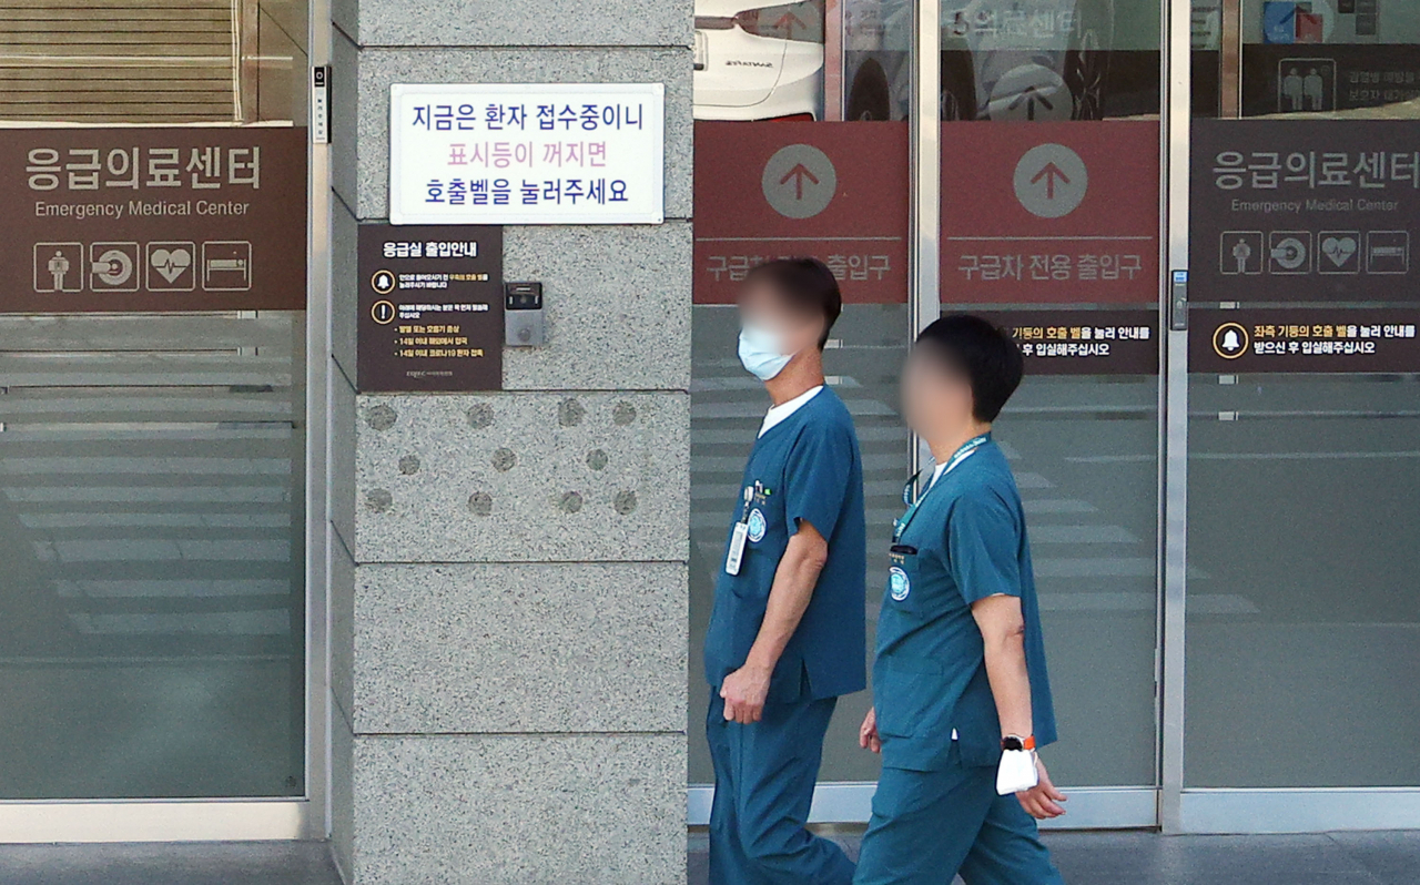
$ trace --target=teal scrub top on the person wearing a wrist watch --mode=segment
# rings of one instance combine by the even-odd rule
[[[973,602],[995,594],[1021,598],[1035,742],[1054,743],[1025,511],[1005,456],[987,442],[924,493],[890,555],[873,666],[883,764],[944,769],[953,730],[964,764],[1000,761],[1001,724],[971,617]]]

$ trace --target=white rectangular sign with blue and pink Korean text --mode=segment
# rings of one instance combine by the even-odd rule
[[[395,224],[659,224],[655,84],[389,88]]]

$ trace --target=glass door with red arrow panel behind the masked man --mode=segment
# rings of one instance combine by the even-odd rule
[[[701,666],[738,479],[768,399],[736,355],[736,291],[755,264],[814,256],[843,293],[825,349],[853,416],[868,509],[869,649],[892,520],[912,473],[897,374],[912,328],[909,107],[913,4],[696,3],[696,277],[692,348],[690,820],[713,773]],[[869,651],[869,663],[870,663]],[[829,727],[814,820],[866,820],[878,759],[858,747],[868,693]]]

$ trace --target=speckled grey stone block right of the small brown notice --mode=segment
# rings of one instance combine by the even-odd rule
[[[547,347],[508,348],[510,391],[690,389],[690,222],[508,227],[504,276],[544,283]]]

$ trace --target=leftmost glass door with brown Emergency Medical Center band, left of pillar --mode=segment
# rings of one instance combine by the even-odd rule
[[[308,13],[0,0],[0,841],[307,796]]]

